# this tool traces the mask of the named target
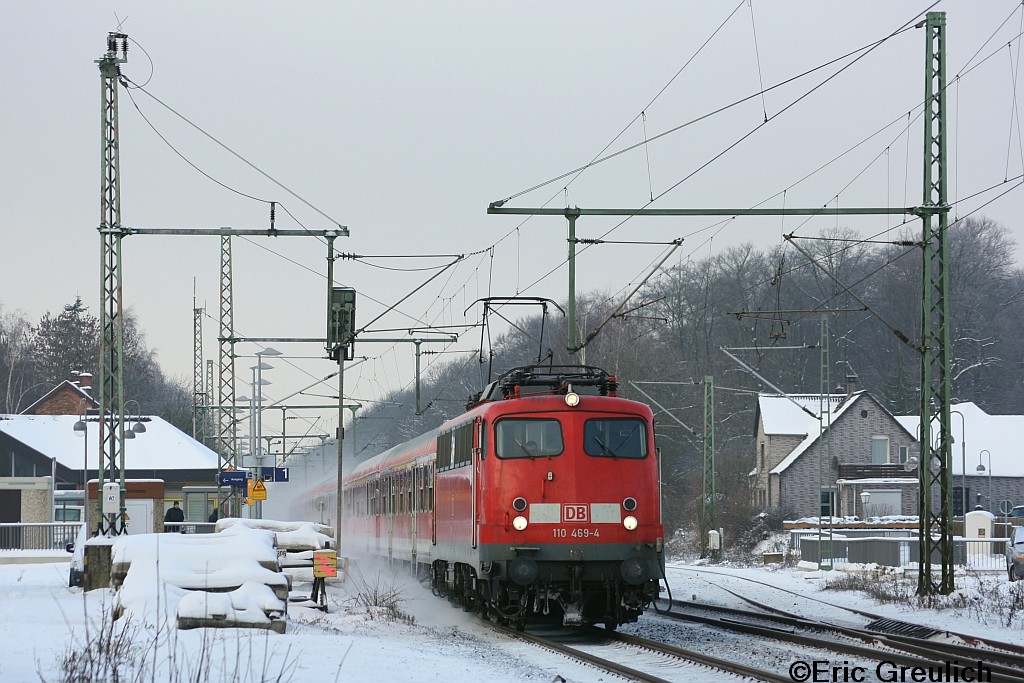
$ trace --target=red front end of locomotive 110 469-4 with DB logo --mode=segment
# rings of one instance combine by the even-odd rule
[[[516,626],[635,622],[664,573],[653,416],[602,371],[540,377],[507,378],[482,415],[478,602]]]

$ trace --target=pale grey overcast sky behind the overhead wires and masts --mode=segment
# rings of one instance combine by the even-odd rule
[[[339,239],[341,251],[470,254],[495,247],[466,258],[374,326],[397,329],[418,326],[416,321],[474,323],[479,307],[463,311],[487,294],[562,301],[565,220],[488,216],[489,202],[580,167],[609,143],[605,154],[866,46],[929,3],[755,0],[739,5],[726,20],[737,5],[730,0],[14,3],[5,11],[8,31],[0,48],[6,63],[0,75],[5,93],[0,304],[36,321],[79,295],[98,314],[100,82],[94,62],[105,49],[108,31],[118,27],[116,16],[133,41],[123,73],[332,220],[348,225],[351,237]],[[1018,178],[956,204],[955,213],[965,215],[1020,182],[1024,83],[1015,75],[1024,66],[1021,5],[963,0],[941,2],[935,9],[947,18],[950,198]],[[652,207],[744,208],[766,200],[767,206],[788,207],[916,205],[924,54],[924,31],[907,31],[791,109],[853,58],[597,165],[571,183],[565,178],[517,197],[508,206],[638,208],[652,195],[657,198]],[[965,71],[966,65],[973,69]],[[153,126],[206,173],[241,193],[280,202],[308,228],[331,225],[147,94],[131,94]],[[908,112],[909,133],[904,130]],[[766,114],[768,124],[688,177],[763,124]],[[228,191],[186,165],[124,89],[120,128],[126,224],[268,225],[266,204]],[[1018,188],[980,213],[1010,227],[1024,245],[1022,208],[1024,193]],[[581,219],[578,234],[600,238],[621,222]],[[892,217],[839,221],[864,237],[893,234],[900,222]],[[281,210],[276,224],[300,226]],[[685,238],[670,261],[675,263],[744,242],[769,247],[779,244],[783,232],[815,234],[836,224],[835,218],[725,223],[635,218],[606,239],[667,243]],[[918,222],[907,227],[920,229]],[[578,289],[622,296],[664,249],[606,245],[587,250],[578,264]],[[323,336],[325,256],[326,246],[312,238],[236,240],[238,334]],[[217,358],[218,260],[216,238],[124,241],[124,302],[173,375],[191,377],[194,292],[208,313],[204,355]],[[392,268],[444,262],[373,260]],[[433,273],[348,260],[337,265],[337,283],[359,291],[360,323]],[[473,351],[478,341],[479,332],[472,330],[450,350]],[[288,357],[272,360],[275,369],[264,374],[273,382],[264,390],[270,400],[334,370],[321,358],[318,345],[273,346]],[[243,356],[256,350],[252,344],[238,348]],[[346,373],[346,394],[369,401],[412,382],[412,345],[360,344],[357,354],[371,358]],[[250,393],[251,365],[251,357],[238,361],[240,394]],[[335,387],[311,392],[331,394]],[[324,413],[310,429],[333,432],[336,416]],[[273,420],[267,418],[264,426],[279,429]]]

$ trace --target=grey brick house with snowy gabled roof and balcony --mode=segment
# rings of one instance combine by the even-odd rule
[[[866,516],[916,514],[918,473],[904,467],[918,456],[916,438],[866,391],[762,394],[756,423],[750,480],[760,509],[864,517],[866,492]]]

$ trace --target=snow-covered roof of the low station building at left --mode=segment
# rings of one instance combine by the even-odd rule
[[[161,418],[142,419],[145,432],[125,441],[127,469],[217,469],[216,453]],[[0,415],[0,432],[75,470],[85,464],[87,451],[88,469],[97,469],[99,424],[90,418],[83,438],[74,429],[78,420],[77,415]]]

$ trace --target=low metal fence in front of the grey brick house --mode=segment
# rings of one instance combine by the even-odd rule
[[[921,562],[921,544],[913,536],[835,536],[829,541],[820,542],[817,533],[800,535],[794,539],[794,548],[800,549],[800,557],[809,562],[827,560],[833,563],[879,564],[894,567],[908,567]],[[1009,539],[963,539],[953,540],[953,563],[969,569],[1006,570],[1006,548]],[[823,553],[823,557],[822,557]],[[937,554],[932,562],[941,562]]]

